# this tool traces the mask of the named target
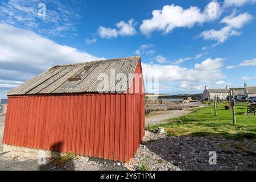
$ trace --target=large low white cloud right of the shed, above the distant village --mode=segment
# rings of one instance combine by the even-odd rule
[[[142,64],[143,75],[148,77],[154,73],[159,82],[172,84],[177,82],[181,89],[200,90],[205,84],[225,78],[221,68],[224,59],[207,59],[195,67],[188,69],[179,65]],[[170,90],[171,92],[171,90]]]

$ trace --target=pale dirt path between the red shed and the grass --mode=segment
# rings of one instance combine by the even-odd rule
[[[186,110],[164,110],[164,111],[152,111],[146,115],[146,125],[155,125],[160,123],[168,123],[168,119],[181,117],[188,113],[191,113],[191,109]]]

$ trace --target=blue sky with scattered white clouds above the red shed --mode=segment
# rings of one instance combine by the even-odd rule
[[[0,98],[54,65],[137,55],[144,77],[159,77],[160,94],[255,86],[255,5],[1,0]]]

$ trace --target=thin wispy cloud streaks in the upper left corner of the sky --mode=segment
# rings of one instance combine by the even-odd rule
[[[38,15],[41,0],[8,0],[0,3],[0,23],[26,28],[45,36],[73,36],[80,19],[79,2],[43,1],[46,16]],[[49,6],[51,5],[51,6]]]

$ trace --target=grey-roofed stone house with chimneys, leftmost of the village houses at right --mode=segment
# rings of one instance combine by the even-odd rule
[[[229,87],[226,86],[225,89],[209,89],[208,86],[205,86],[203,100],[213,100],[214,96],[220,100],[226,99],[229,96]]]

